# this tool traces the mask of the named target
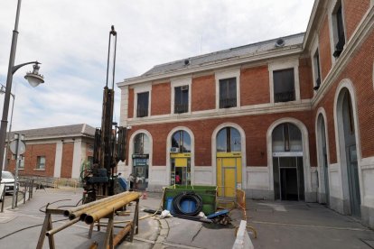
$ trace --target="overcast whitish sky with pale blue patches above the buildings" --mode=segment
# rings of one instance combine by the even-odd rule
[[[16,0],[0,1],[0,83],[5,85]],[[108,33],[117,31],[115,82],[154,65],[305,32],[313,0],[27,0],[15,64],[39,60],[37,88],[14,74],[12,130],[101,123]],[[115,87],[119,120],[119,88]],[[0,95],[2,112],[4,95]],[[9,111],[8,120],[10,120]]]

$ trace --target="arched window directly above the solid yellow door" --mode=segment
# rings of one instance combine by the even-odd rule
[[[241,152],[241,139],[237,129],[225,127],[217,134],[217,152]]]

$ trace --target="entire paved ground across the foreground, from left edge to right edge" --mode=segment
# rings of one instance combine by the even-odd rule
[[[47,203],[61,208],[75,206],[80,198],[80,189],[36,191],[26,204],[0,214],[0,248],[35,248],[44,219],[40,209]],[[140,207],[156,209],[160,198],[161,194],[148,193],[148,198],[140,200]],[[248,226],[257,229],[257,238],[250,235],[255,248],[374,248],[373,231],[319,204],[248,200],[247,207]],[[127,209],[132,208],[134,205]],[[140,212],[140,217],[147,215]],[[242,216],[234,211],[231,217],[234,226],[211,226],[175,217],[147,217],[140,220],[134,242],[124,242],[117,248],[231,248],[235,225]],[[130,218],[117,217],[117,221]],[[60,219],[64,217],[53,217],[53,227],[66,222],[59,222]],[[94,231],[89,239],[89,226],[79,222],[55,235],[56,248],[89,248],[93,241],[102,244],[105,231],[105,228]],[[47,239],[43,248],[48,248]]]

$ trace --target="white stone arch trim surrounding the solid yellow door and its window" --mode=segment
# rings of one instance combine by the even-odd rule
[[[241,186],[246,188],[247,186],[247,149],[246,149],[246,133],[240,125],[235,123],[223,123],[218,125],[213,133],[211,134],[211,168],[212,168],[212,182],[213,185],[217,185],[217,134],[222,128],[232,127],[238,130],[240,134],[241,143]]]

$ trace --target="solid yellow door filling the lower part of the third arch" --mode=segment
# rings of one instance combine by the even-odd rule
[[[217,187],[219,196],[235,197],[235,189],[241,188],[241,153],[217,153]]]

